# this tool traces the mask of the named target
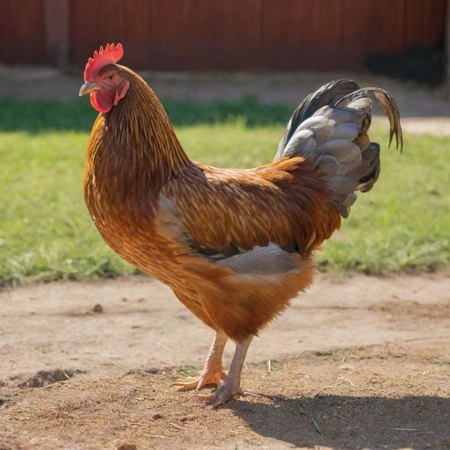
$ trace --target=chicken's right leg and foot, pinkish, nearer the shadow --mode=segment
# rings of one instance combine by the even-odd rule
[[[250,342],[252,342],[252,339],[253,336],[249,336],[242,342],[238,342],[236,344],[236,351],[234,352],[230,370],[228,375],[226,375],[224,383],[222,383],[217,390],[212,392],[212,394],[199,396],[200,399],[207,400],[208,405],[211,405],[213,408],[217,408],[217,406],[225,404],[227,401],[231,400],[235,395],[246,395],[242,387],[240,387],[240,373],[242,372],[245,355],[247,354],[247,350],[250,346]]]

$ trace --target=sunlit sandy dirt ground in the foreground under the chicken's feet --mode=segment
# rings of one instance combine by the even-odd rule
[[[1,450],[450,449],[449,273],[318,276],[250,347],[243,387],[273,398],[217,410],[169,386],[212,331],[158,281],[5,289],[0,307]]]

